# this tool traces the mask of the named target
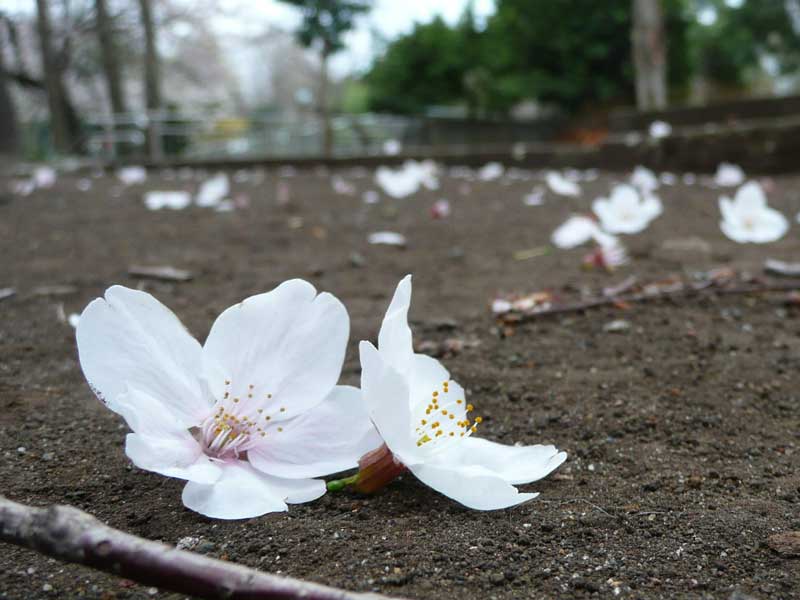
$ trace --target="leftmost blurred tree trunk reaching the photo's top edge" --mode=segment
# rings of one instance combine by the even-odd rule
[[[50,10],[47,0],[36,0],[36,29],[42,53],[42,72],[47,92],[47,105],[50,110],[50,132],[56,151],[67,153],[72,149],[70,139],[69,115],[65,110],[68,103],[62,79],[61,61],[53,50]]]

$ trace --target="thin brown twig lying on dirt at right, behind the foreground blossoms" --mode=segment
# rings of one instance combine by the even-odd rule
[[[511,313],[510,318],[504,318],[505,315],[500,315],[500,319],[506,321],[510,325],[522,323],[525,321],[532,321],[539,317],[548,315],[561,315],[573,312],[583,312],[590,308],[597,308],[599,306],[609,306],[613,304],[633,304],[636,302],[646,302],[648,300],[663,300],[666,298],[680,298],[695,295],[734,295],[734,294],[757,294],[763,292],[791,292],[800,290],[800,280],[780,281],[774,283],[763,283],[756,285],[742,285],[734,287],[717,287],[713,282],[704,282],[696,285],[684,286],[678,290],[667,290],[655,293],[639,293],[627,294],[620,296],[604,296],[602,298],[591,298],[583,302],[575,302],[573,304],[561,304],[551,308],[546,308],[532,313],[523,313],[514,315]]]

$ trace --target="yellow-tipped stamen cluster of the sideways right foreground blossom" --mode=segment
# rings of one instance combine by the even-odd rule
[[[450,391],[450,382],[442,383],[441,390],[434,390],[427,402],[419,404],[415,415],[414,434],[418,447],[441,447],[463,437],[469,437],[478,429],[482,417],[470,420],[474,410],[471,404]]]

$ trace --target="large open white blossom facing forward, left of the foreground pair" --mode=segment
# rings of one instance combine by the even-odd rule
[[[90,387],[133,430],[133,463],[185,479],[188,508],[240,519],[318,498],[314,477],[380,443],[359,391],[336,385],[348,333],[341,302],[295,279],[224,311],[204,346],[121,286],[87,306],[76,335]]]

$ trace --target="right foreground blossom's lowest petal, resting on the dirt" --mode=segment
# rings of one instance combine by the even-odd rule
[[[422,464],[409,468],[425,485],[475,510],[508,508],[538,495],[521,494],[513,485],[481,467],[452,469]]]

